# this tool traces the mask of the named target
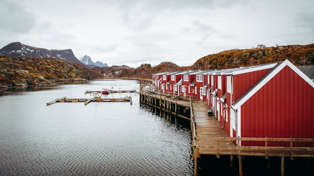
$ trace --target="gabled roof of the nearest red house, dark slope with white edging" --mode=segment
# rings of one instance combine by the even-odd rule
[[[293,65],[289,60],[283,62],[278,62],[272,70],[269,70],[260,80],[258,80],[249,90],[247,90],[238,100],[236,100],[232,108],[238,109],[243,105],[251,96],[253,96],[258,90],[260,90],[269,80],[271,80],[275,75],[277,75],[285,66],[289,66],[296,74],[298,74],[302,79],[304,79],[309,85],[314,88],[314,82],[307,77],[301,70],[299,70],[295,65]]]

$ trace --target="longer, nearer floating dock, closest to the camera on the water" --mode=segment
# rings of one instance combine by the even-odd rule
[[[125,97],[125,98],[102,98],[102,97],[94,97],[94,98],[59,98],[53,101],[50,101],[49,103],[46,103],[47,106],[56,103],[56,102],[85,102],[84,105],[87,105],[91,101],[96,102],[115,102],[115,101],[130,101],[132,105],[132,98],[131,97]]]

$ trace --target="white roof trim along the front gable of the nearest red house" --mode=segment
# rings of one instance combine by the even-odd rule
[[[303,78],[309,85],[314,88],[314,82],[311,81],[301,70],[299,70],[295,65],[293,65],[289,60],[285,60],[280,64],[275,70],[273,70],[264,80],[262,80],[254,89],[252,89],[246,96],[244,96],[237,104],[232,105],[233,109],[239,109],[251,96],[253,96],[258,90],[260,90],[269,80],[271,80],[277,73],[279,73],[285,66],[289,66],[293,71],[295,71],[301,78]]]

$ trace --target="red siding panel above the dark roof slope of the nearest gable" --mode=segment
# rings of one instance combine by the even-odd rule
[[[240,96],[242,96],[247,90],[249,90],[252,85],[254,85],[258,80],[260,80],[269,70],[258,70],[249,73],[239,74],[233,76],[233,93],[232,101],[236,101]]]

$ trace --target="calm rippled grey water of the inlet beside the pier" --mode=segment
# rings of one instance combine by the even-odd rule
[[[58,102],[133,80],[14,88],[0,94],[0,175],[193,175],[190,122],[130,102]]]

